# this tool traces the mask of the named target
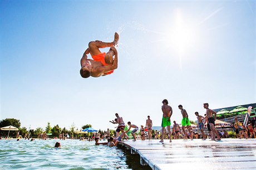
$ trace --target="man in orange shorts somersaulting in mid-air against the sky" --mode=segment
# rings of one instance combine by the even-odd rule
[[[91,41],[83,57],[81,58],[80,74],[83,78],[106,76],[114,72],[117,68],[117,50],[114,47],[119,41],[119,34],[115,33],[113,42]],[[110,47],[109,52],[101,53],[99,48]],[[87,59],[87,54],[91,54],[92,59]],[[115,56],[115,59],[113,59]]]

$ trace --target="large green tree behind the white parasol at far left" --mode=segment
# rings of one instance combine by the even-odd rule
[[[19,122],[18,119],[14,118],[6,118],[0,121],[0,127],[6,127],[6,126],[14,126],[17,128],[21,127],[21,122]],[[16,136],[16,131],[10,131],[9,136]],[[7,136],[8,131],[0,131],[0,136]]]

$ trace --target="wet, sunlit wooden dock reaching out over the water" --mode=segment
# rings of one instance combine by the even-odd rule
[[[256,169],[256,139],[119,142],[152,169]]]

